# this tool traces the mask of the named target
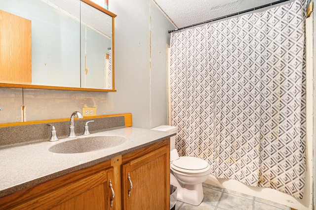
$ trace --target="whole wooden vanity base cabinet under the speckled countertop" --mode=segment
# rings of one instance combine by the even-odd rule
[[[165,139],[2,197],[0,209],[169,210],[169,142]],[[133,184],[129,197],[128,174]]]

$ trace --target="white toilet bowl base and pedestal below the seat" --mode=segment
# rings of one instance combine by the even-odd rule
[[[177,200],[194,206],[200,205],[204,198],[202,183],[188,185],[179,183],[179,181],[170,174],[170,183],[177,186]]]

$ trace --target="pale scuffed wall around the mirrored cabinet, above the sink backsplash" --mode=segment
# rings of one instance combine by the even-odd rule
[[[22,92],[22,89],[0,88],[0,123],[21,121],[23,105],[26,120],[31,121],[70,118],[73,111],[82,110],[83,104],[96,106],[97,115],[132,113],[135,127],[167,123],[166,44],[170,37],[168,30],[174,27],[151,0],[110,0],[109,9],[118,15],[115,18],[117,92]]]

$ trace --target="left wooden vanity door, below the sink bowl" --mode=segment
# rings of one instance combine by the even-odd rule
[[[110,180],[113,169],[98,172],[25,202],[16,209],[114,210]]]

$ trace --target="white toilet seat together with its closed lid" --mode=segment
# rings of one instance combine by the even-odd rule
[[[171,168],[184,173],[203,173],[210,169],[209,164],[200,158],[182,156],[171,163]]]

